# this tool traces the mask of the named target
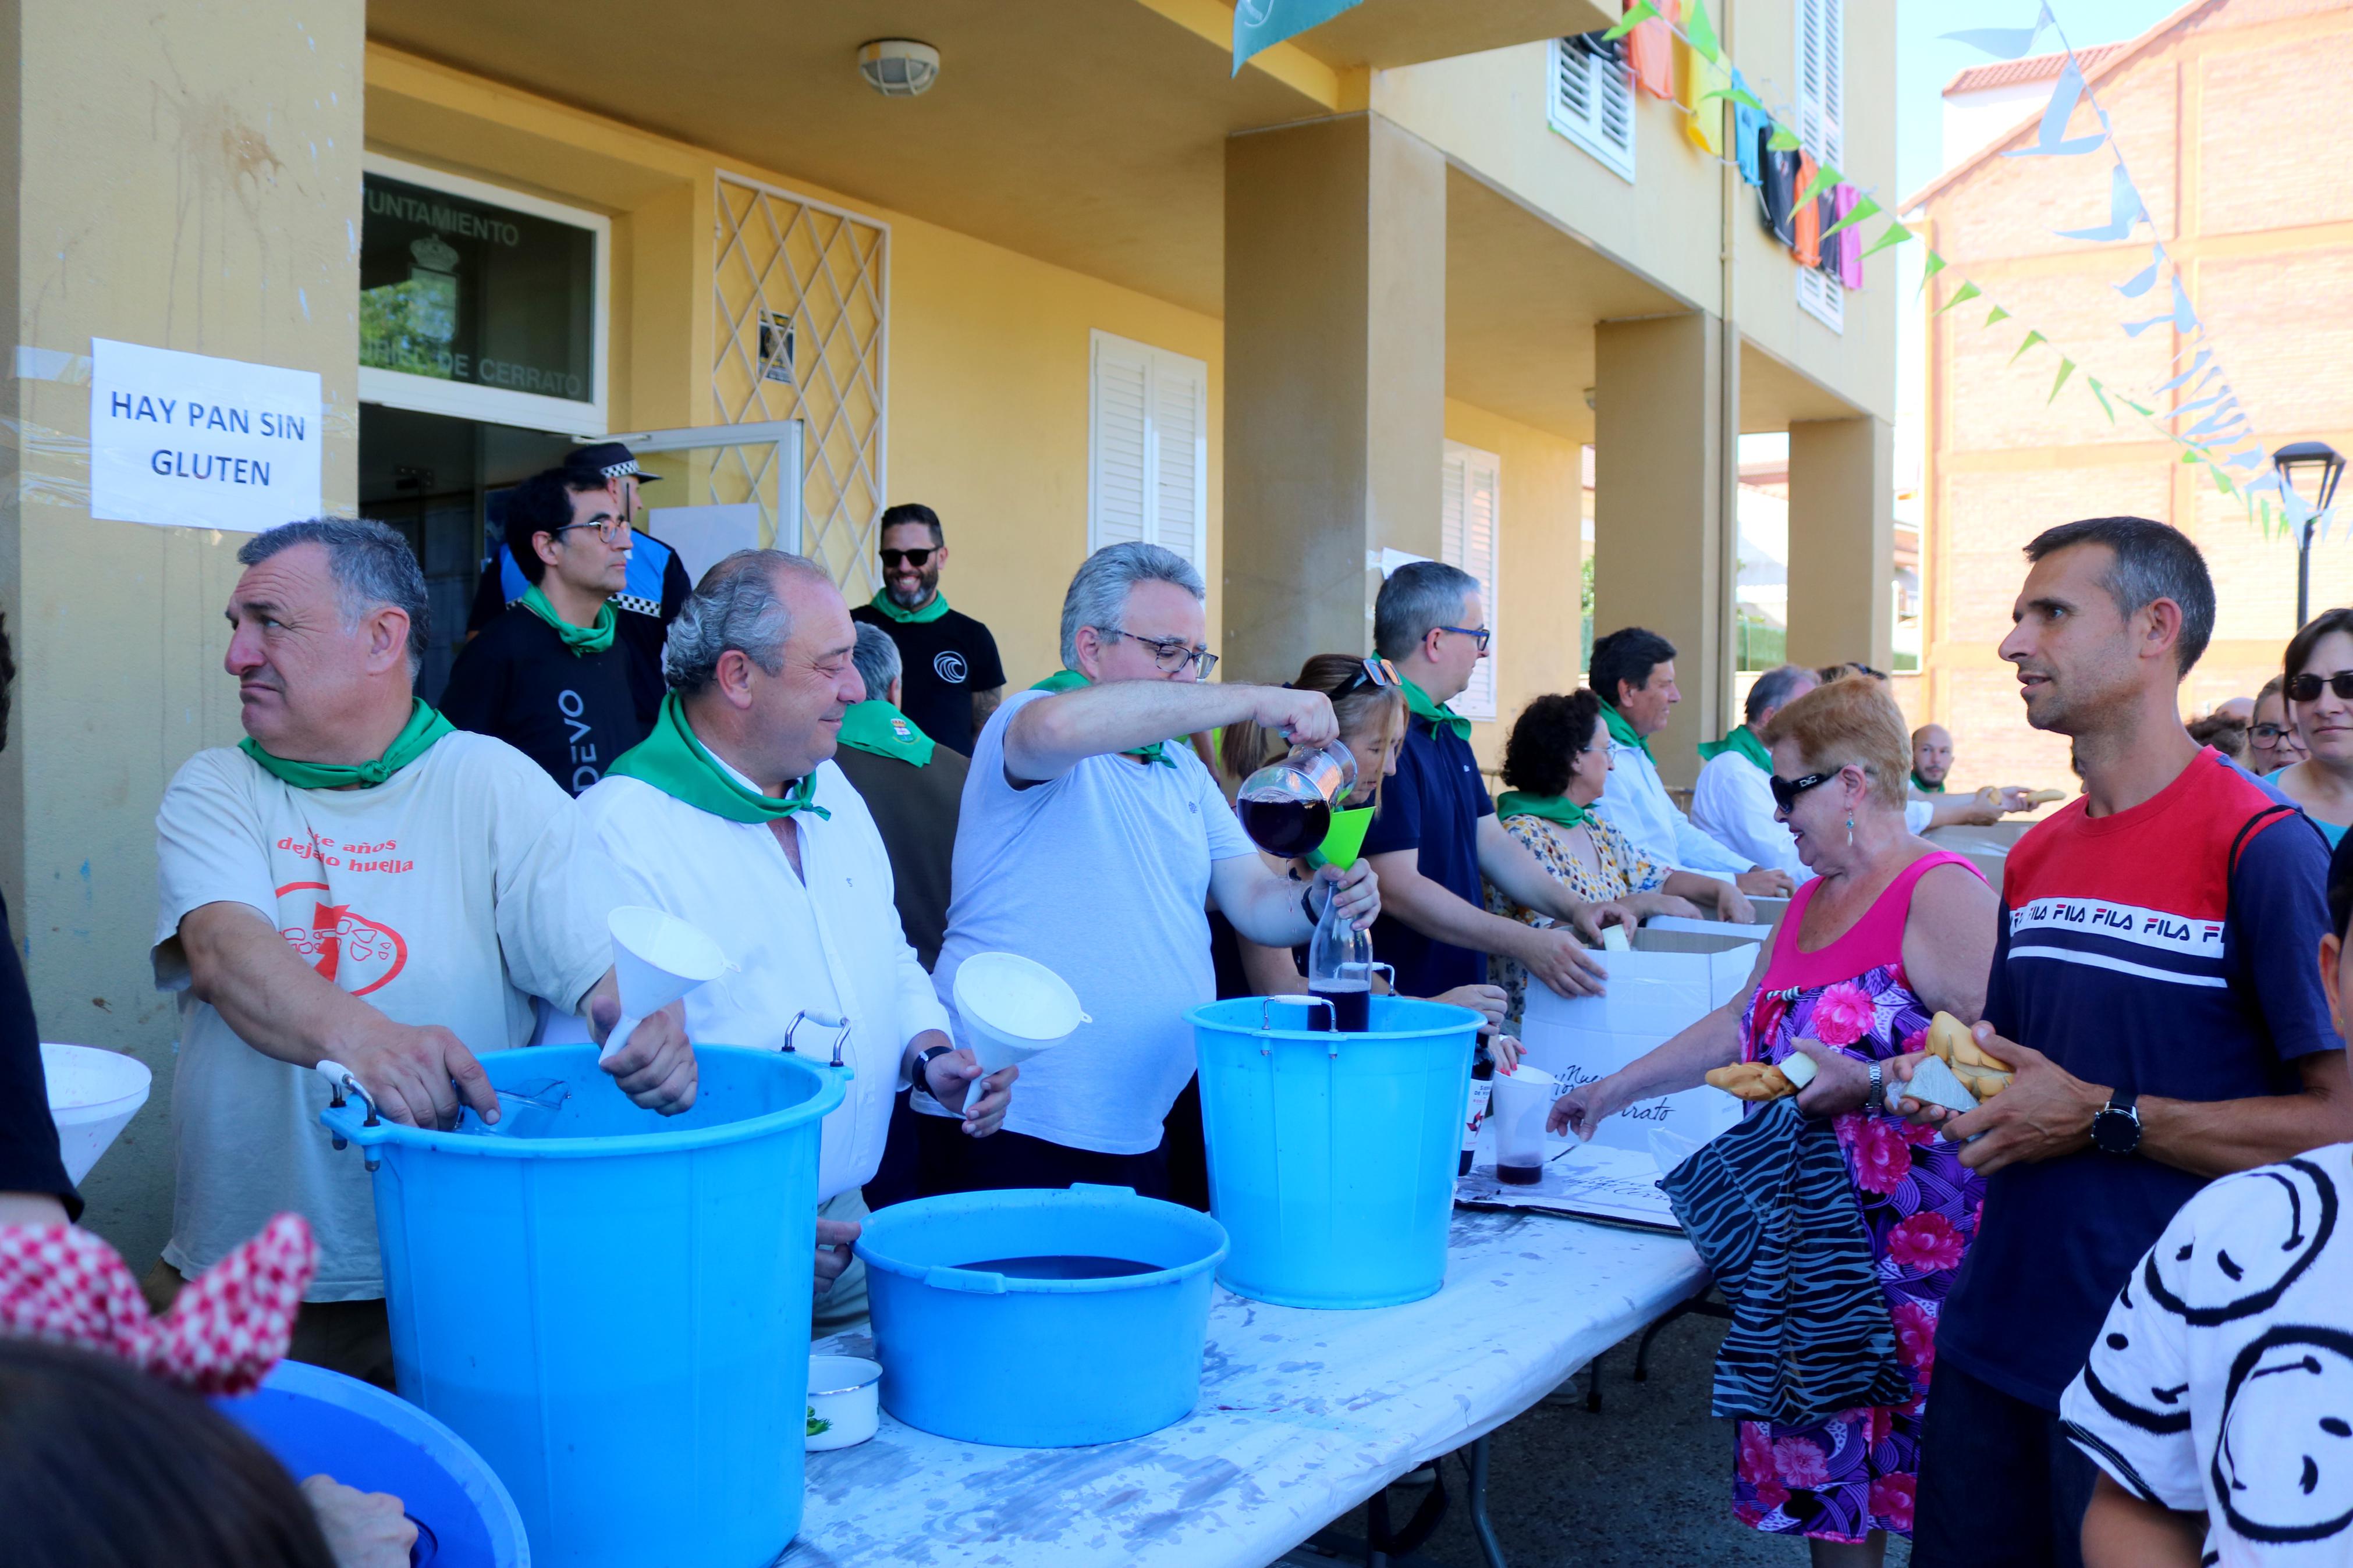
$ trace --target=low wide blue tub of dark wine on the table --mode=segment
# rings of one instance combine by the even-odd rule
[[[882,1408],[965,1443],[1078,1448],[1193,1413],[1217,1220],[1129,1187],[892,1204],[859,1237]],[[1014,1262],[1014,1272],[976,1269]],[[1071,1276],[1075,1260],[1146,1272]],[[1068,1265],[1068,1267],[1056,1267]]]

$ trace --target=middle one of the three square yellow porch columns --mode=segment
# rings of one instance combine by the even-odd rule
[[[1642,625],[1675,644],[1682,703],[1649,743],[1671,785],[1699,776],[1694,748],[1732,705],[1720,397],[1713,315],[1593,329],[1593,635]]]

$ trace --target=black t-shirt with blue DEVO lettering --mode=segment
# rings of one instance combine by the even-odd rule
[[[553,625],[515,604],[459,649],[440,708],[459,729],[506,741],[579,795],[654,726],[659,698],[645,701],[635,668],[638,654],[619,635],[602,654],[574,654]]]

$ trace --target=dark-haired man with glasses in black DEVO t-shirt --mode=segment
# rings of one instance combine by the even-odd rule
[[[459,649],[440,708],[579,795],[645,741],[659,705],[612,604],[638,536],[609,489],[572,489],[551,468],[508,491],[506,538],[529,588]]]

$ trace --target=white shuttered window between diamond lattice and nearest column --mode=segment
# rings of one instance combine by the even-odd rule
[[[1209,364],[1094,334],[1087,550],[1132,538],[1209,555]]]

